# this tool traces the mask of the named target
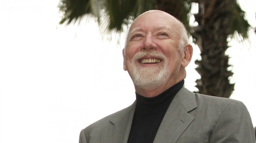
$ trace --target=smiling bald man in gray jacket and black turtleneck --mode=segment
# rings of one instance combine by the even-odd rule
[[[151,10],[132,23],[123,50],[136,101],[83,129],[80,143],[255,143],[250,115],[239,101],[183,87],[191,60],[184,25]]]

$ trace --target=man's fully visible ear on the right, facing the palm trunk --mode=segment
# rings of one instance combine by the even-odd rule
[[[183,68],[185,68],[191,61],[192,58],[192,54],[193,54],[193,47],[190,44],[186,44],[185,45],[185,49],[182,53],[182,62],[181,62],[181,66]]]

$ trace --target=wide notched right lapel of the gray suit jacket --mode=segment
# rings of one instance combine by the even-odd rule
[[[157,131],[154,143],[175,143],[194,120],[194,117],[187,112],[195,108],[195,94],[184,87],[180,89],[166,111]]]

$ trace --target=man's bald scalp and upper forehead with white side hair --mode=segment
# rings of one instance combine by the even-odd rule
[[[127,42],[131,37],[131,33],[136,29],[138,30],[136,26],[138,26],[138,23],[140,21],[145,21],[148,23],[154,23],[155,21],[163,21],[164,23],[166,23],[166,27],[169,28],[169,30],[174,34],[173,36],[175,36],[175,38],[177,38],[177,40],[179,41],[180,52],[184,50],[185,48],[184,46],[186,44],[189,44],[187,30],[182,22],[180,22],[177,18],[175,18],[174,16],[170,15],[167,12],[164,12],[161,10],[150,10],[142,13],[131,24],[131,27],[126,37],[125,48],[127,46]],[[159,25],[159,27],[156,27],[156,28],[160,28],[160,27],[161,26]]]

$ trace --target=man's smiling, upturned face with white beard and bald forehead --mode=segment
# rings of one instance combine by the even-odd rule
[[[184,61],[186,45],[184,51],[179,51],[182,26],[159,10],[145,12],[132,23],[123,56],[124,70],[131,76],[135,89],[162,85],[169,88],[185,78],[185,67],[191,57]]]

